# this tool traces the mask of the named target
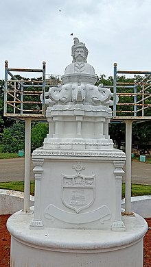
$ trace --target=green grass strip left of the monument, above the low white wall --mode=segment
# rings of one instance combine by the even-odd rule
[[[14,191],[24,191],[24,181],[8,181],[0,183],[1,189],[8,189]],[[30,182],[30,194],[34,195],[34,181]]]

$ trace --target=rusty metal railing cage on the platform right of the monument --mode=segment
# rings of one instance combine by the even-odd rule
[[[141,81],[117,82],[117,75],[146,75]],[[117,71],[114,64],[113,77],[113,118],[151,119],[151,71]],[[116,103],[116,94],[119,97]],[[150,112],[151,113],[151,112]]]

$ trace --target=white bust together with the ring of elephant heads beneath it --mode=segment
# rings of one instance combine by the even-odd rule
[[[74,38],[71,47],[73,61],[65,68],[65,75],[62,75],[63,85],[58,84],[57,88],[52,87],[45,93],[46,104],[113,105],[111,91],[102,85],[95,86],[97,77],[93,66],[86,61],[88,52],[85,44]]]

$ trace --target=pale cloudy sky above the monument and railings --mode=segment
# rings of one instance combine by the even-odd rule
[[[5,60],[10,68],[41,68],[45,60],[47,73],[63,75],[74,37],[86,44],[99,76],[113,75],[114,62],[119,70],[151,71],[151,0],[1,0],[0,6],[0,79]]]

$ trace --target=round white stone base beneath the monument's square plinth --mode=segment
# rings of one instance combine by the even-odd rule
[[[7,223],[11,267],[143,267],[141,216],[124,216],[126,231],[30,229],[33,214],[16,212]]]

